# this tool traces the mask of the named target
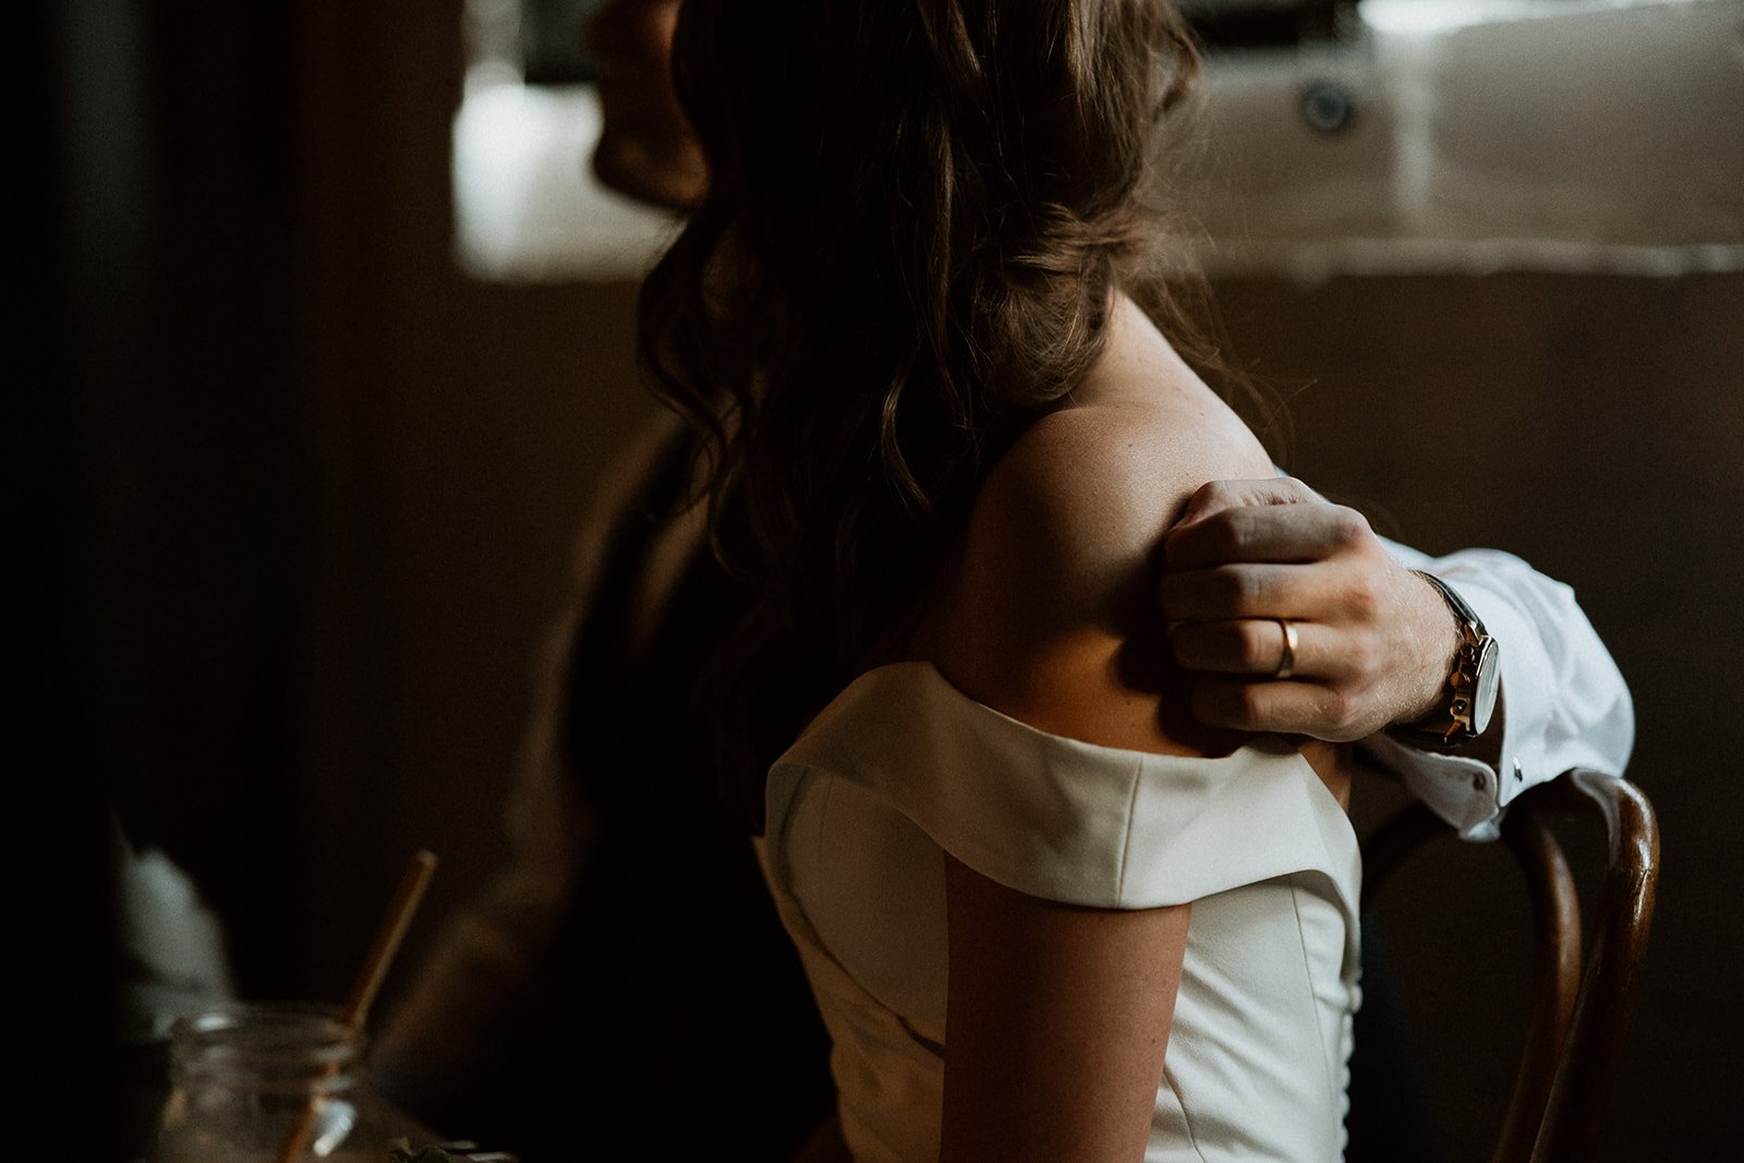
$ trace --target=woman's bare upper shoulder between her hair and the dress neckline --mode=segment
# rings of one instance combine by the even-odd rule
[[[1162,337],[1114,338],[984,485],[935,652],[968,694],[1038,727],[1174,750],[1155,673],[1158,546],[1200,485],[1271,462]]]

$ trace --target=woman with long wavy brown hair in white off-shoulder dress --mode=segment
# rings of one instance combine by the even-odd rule
[[[1162,663],[1165,532],[1271,473],[1156,269],[1193,71],[1158,0],[685,0],[710,181],[640,345],[860,1160],[1341,1151],[1345,757],[1196,725]]]

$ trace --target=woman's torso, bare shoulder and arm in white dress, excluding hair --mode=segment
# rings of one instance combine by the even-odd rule
[[[1207,736],[1153,664],[1162,534],[1268,467],[1121,302],[991,473],[909,661],[776,764],[760,851],[856,1156],[1338,1154],[1348,772]]]

